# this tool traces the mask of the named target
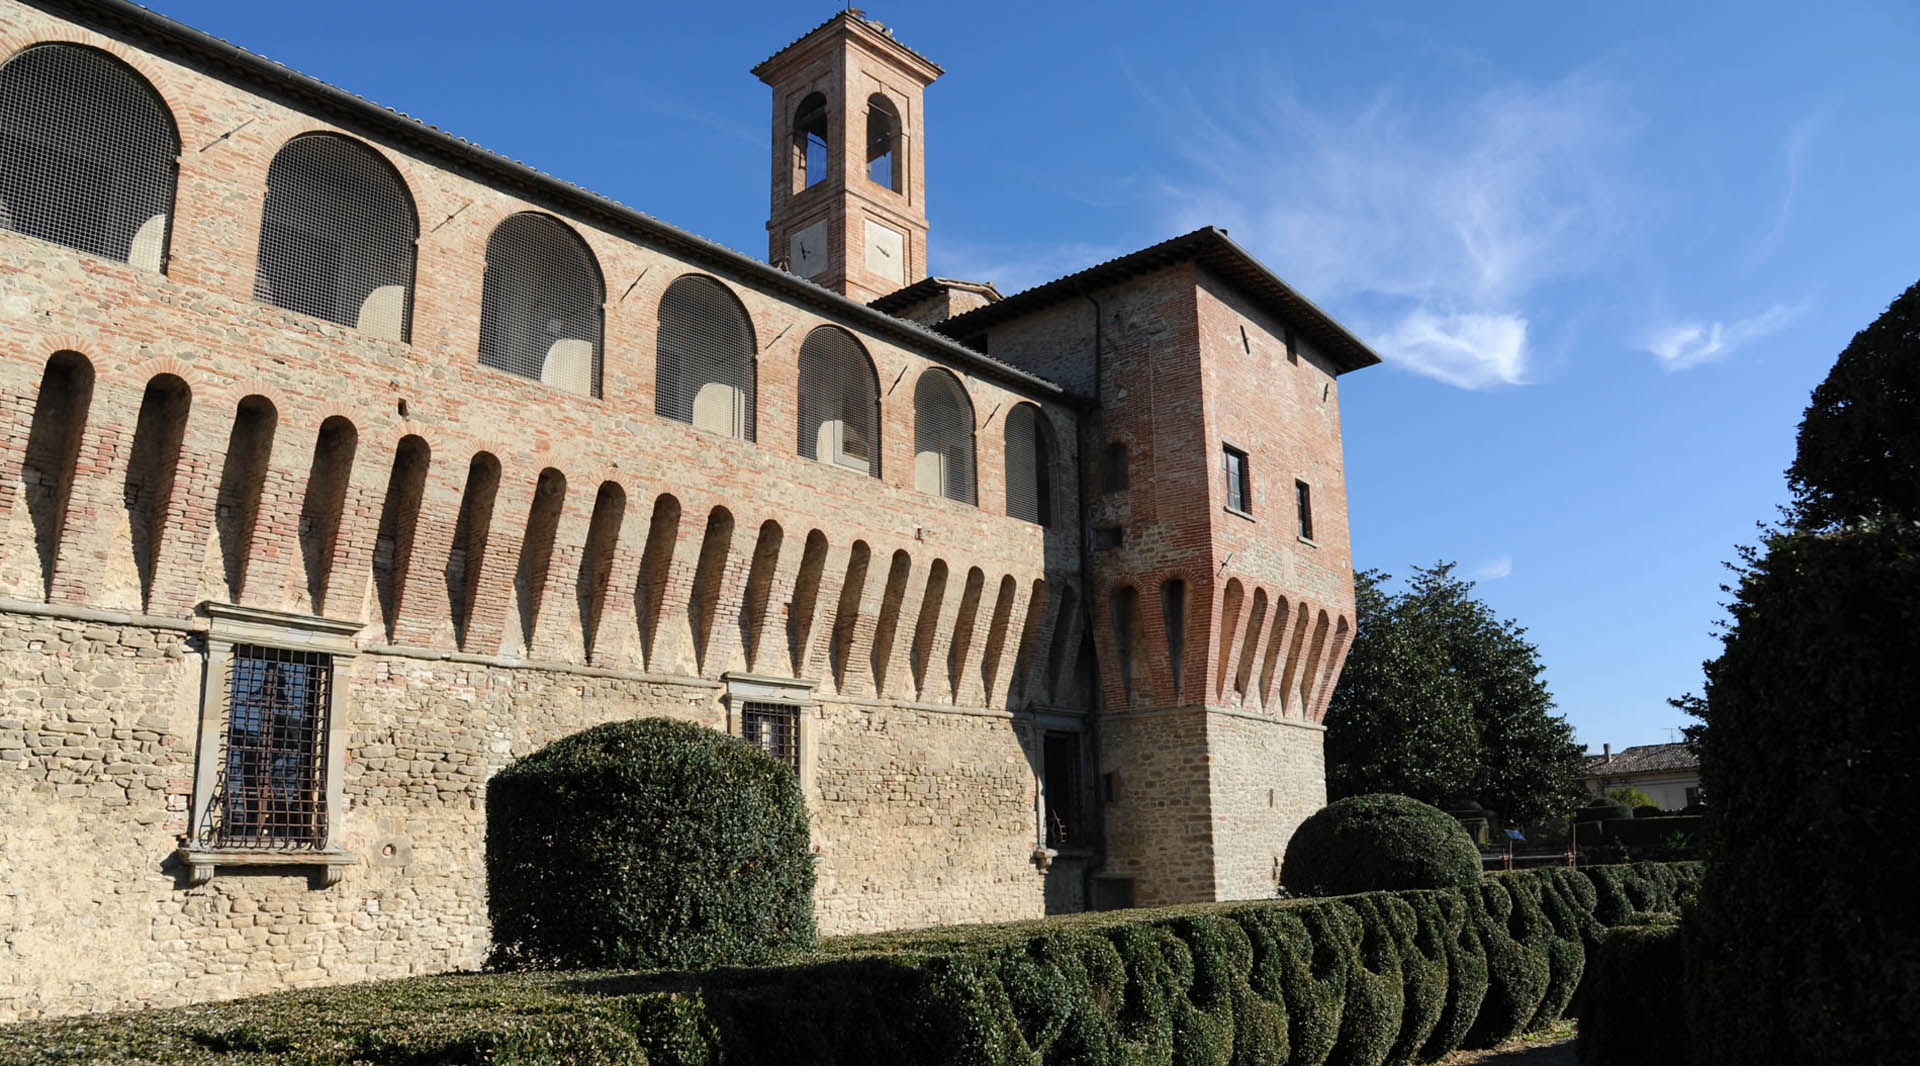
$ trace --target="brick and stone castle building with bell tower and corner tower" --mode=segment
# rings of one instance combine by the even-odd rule
[[[484,791],[789,761],[824,932],[1273,893],[1338,378],[1204,229],[927,277],[941,69],[772,88],[768,259],[125,0],[0,0],[0,1020],[470,968]]]

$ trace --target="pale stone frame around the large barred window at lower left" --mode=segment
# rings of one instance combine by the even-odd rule
[[[353,636],[361,622],[288,615],[232,603],[202,603],[207,618],[205,657],[200,674],[200,747],[194,755],[194,803],[188,809],[186,837],[175,853],[188,870],[188,884],[204,885],[219,866],[273,866],[319,872],[321,885],[340,884],[346,866],[357,859],[340,839],[346,811],[346,688],[340,684],[346,661],[359,653]],[[326,841],[317,849],[236,849],[200,843],[200,830],[211,816],[213,786],[219,780],[221,734],[227,722],[227,665],[234,645],[313,651],[332,659],[326,686]]]

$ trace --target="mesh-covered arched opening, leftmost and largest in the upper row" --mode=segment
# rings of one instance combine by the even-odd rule
[[[163,271],[180,136],[154,86],[79,44],[0,67],[0,227]]]

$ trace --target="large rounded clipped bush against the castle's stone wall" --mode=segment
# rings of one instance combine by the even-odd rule
[[[609,722],[493,776],[493,964],[699,968],[814,945],[806,803],[785,764],[689,722]]]

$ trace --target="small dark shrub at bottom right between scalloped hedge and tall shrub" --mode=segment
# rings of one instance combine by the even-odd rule
[[[1580,997],[1580,1066],[1688,1066],[1682,970],[1672,918],[1607,930]]]

